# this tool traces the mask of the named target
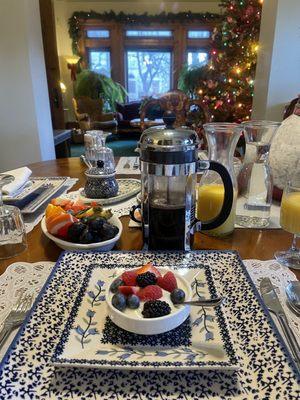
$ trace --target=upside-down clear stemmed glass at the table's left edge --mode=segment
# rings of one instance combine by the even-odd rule
[[[26,231],[20,210],[2,201],[2,187],[8,182],[0,175],[0,259],[14,257],[27,249]]]

